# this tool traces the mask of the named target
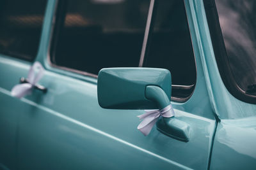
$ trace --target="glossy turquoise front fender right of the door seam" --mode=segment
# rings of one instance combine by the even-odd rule
[[[255,169],[256,117],[221,120],[212,150],[211,169]]]

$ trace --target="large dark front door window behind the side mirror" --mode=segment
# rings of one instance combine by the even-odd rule
[[[184,1],[155,1],[155,19],[148,27],[150,2],[60,1],[52,65],[94,76],[103,67],[166,68],[172,73],[172,96],[187,99],[195,87],[196,66]],[[145,40],[146,27],[152,35]],[[145,55],[143,45],[148,48]]]

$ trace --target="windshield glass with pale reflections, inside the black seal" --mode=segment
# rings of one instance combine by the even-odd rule
[[[256,1],[216,0],[216,8],[234,79],[256,95]]]

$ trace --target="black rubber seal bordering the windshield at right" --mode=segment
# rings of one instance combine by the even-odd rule
[[[232,74],[221,32],[215,0],[204,0],[204,7],[211,35],[212,47],[218,69],[220,71],[221,80],[232,96],[246,103],[256,104],[256,96],[247,94],[243,89],[241,89],[239,85],[237,85]]]

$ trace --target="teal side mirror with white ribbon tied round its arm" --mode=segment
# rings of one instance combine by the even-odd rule
[[[175,139],[189,141],[189,125],[175,117],[170,104],[172,77],[167,69],[129,67],[101,69],[98,76],[98,102],[102,108],[120,110],[158,109],[138,117],[145,136],[153,125]],[[157,121],[160,114],[162,117]],[[152,116],[151,116],[152,114]]]

